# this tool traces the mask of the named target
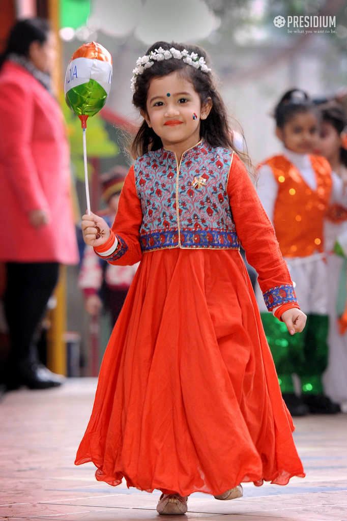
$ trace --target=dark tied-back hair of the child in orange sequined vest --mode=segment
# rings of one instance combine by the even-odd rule
[[[305,112],[316,113],[314,103],[310,100],[306,92],[300,89],[291,89],[283,94],[275,107],[274,117],[276,119],[276,126],[282,129],[296,114],[303,114]]]

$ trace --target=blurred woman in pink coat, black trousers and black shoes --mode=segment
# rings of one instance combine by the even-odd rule
[[[78,261],[70,202],[69,147],[52,95],[55,36],[41,19],[16,23],[0,57],[0,262],[7,266],[11,338],[8,388],[57,386],[39,361],[35,335],[58,278]]]

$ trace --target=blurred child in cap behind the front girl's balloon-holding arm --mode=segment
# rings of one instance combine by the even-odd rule
[[[127,169],[116,166],[101,176],[102,197],[107,207],[98,215],[108,226],[115,220],[121,189]],[[139,264],[115,266],[98,257],[92,246],[86,246],[82,258],[79,287],[83,291],[85,309],[91,316],[101,313],[104,307],[111,315],[111,327],[116,323],[128,289]]]

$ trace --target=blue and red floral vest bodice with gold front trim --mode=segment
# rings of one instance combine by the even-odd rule
[[[159,248],[239,249],[227,194],[233,152],[202,140],[183,153],[160,148],[134,163],[143,252]]]

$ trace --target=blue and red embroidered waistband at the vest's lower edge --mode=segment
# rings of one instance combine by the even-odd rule
[[[219,230],[163,230],[140,235],[143,252],[159,248],[216,248],[239,249],[236,231]]]

